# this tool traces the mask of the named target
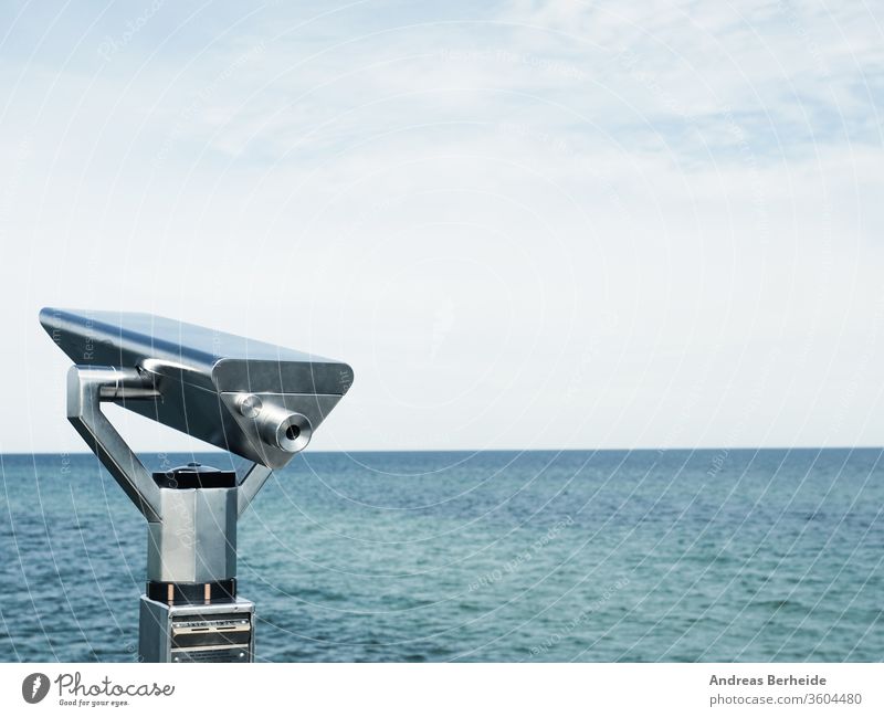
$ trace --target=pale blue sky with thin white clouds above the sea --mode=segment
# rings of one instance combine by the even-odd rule
[[[4,2],[0,451],[85,449],[43,306],[347,361],[308,450],[882,445],[883,25]]]

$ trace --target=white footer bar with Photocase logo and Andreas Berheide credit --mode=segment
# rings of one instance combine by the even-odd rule
[[[884,666],[4,664],[0,705],[15,715],[880,716]]]

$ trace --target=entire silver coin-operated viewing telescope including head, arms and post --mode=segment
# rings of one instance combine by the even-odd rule
[[[236,521],[352,383],[346,363],[149,314],[44,308],[74,361],[67,419],[147,518],[139,658],[253,662],[236,594]],[[102,413],[114,402],[239,456],[149,473]]]

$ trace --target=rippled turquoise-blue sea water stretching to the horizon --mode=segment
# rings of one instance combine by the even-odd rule
[[[140,516],[91,455],[0,467],[2,654],[131,661]],[[266,661],[881,661],[883,475],[881,450],[308,452],[240,524],[240,592]]]

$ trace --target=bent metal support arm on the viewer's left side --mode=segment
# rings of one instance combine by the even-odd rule
[[[138,369],[72,366],[67,420],[148,523],[161,523],[160,492],[144,464],[102,413],[102,401],[156,399],[159,392]]]

